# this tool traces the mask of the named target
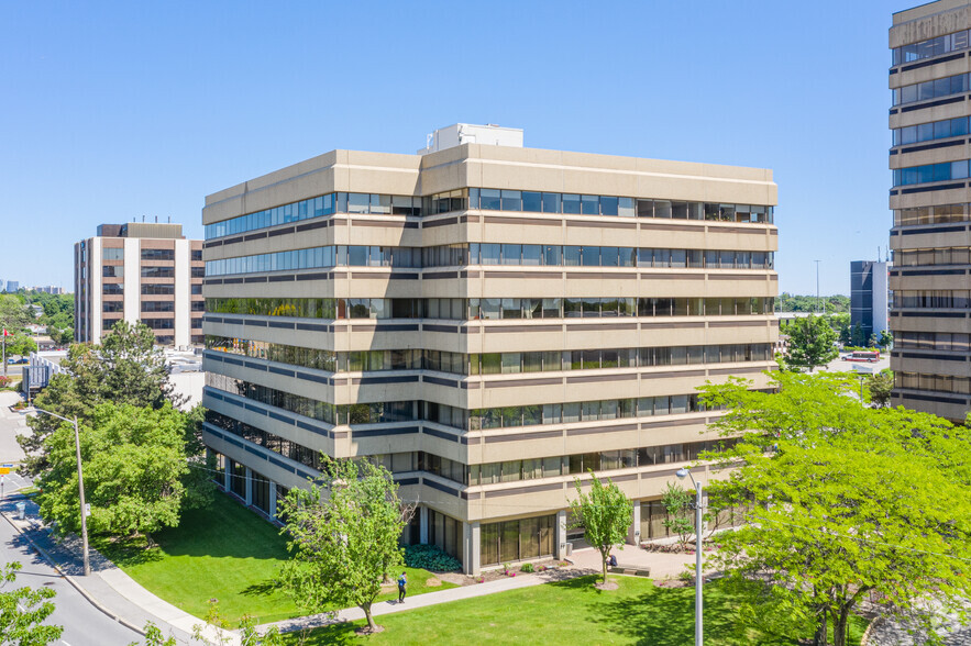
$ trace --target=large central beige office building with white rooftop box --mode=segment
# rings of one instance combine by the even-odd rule
[[[663,535],[664,486],[718,444],[695,388],[773,366],[772,172],[464,124],[422,153],[333,151],[206,199],[227,489],[272,516],[320,453],[367,456],[419,503],[405,541],[476,572],[582,545],[565,510],[593,469],[637,501],[631,542]]]

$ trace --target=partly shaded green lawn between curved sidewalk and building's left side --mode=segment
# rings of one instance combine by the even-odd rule
[[[95,543],[135,581],[191,615],[206,616],[209,599],[219,600],[220,612],[236,622],[252,615],[258,623],[304,614],[277,589],[274,580],[287,559],[286,539],[279,530],[222,494],[212,506],[183,515],[178,527],[153,535],[157,546],[144,542]],[[421,594],[453,588],[451,583],[428,588],[433,575],[408,571],[408,593]],[[391,591],[382,599],[397,597]]]

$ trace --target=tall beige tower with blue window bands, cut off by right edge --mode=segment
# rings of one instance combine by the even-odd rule
[[[963,420],[971,408],[971,3],[893,15],[890,167],[892,403]]]

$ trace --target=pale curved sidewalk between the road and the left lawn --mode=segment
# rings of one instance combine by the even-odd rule
[[[16,519],[14,506],[22,501],[27,504],[23,521]],[[33,502],[21,495],[8,497],[0,503],[0,513],[60,570],[76,590],[108,616],[139,633],[151,621],[179,644],[198,644],[191,641],[191,633],[194,626],[205,623],[202,620],[152,594],[96,549],[89,550],[91,575],[85,577],[80,539],[74,536],[60,543],[52,539],[37,517],[37,505]],[[213,635],[211,628],[205,634]]]

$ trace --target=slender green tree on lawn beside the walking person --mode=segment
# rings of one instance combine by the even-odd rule
[[[372,604],[385,572],[404,565],[398,484],[369,461],[321,458],[322,486],[295,487],[282,501],[293,558],[280,569],[280,581],[301,609],[356,605],[367,631],[377,632]]]

